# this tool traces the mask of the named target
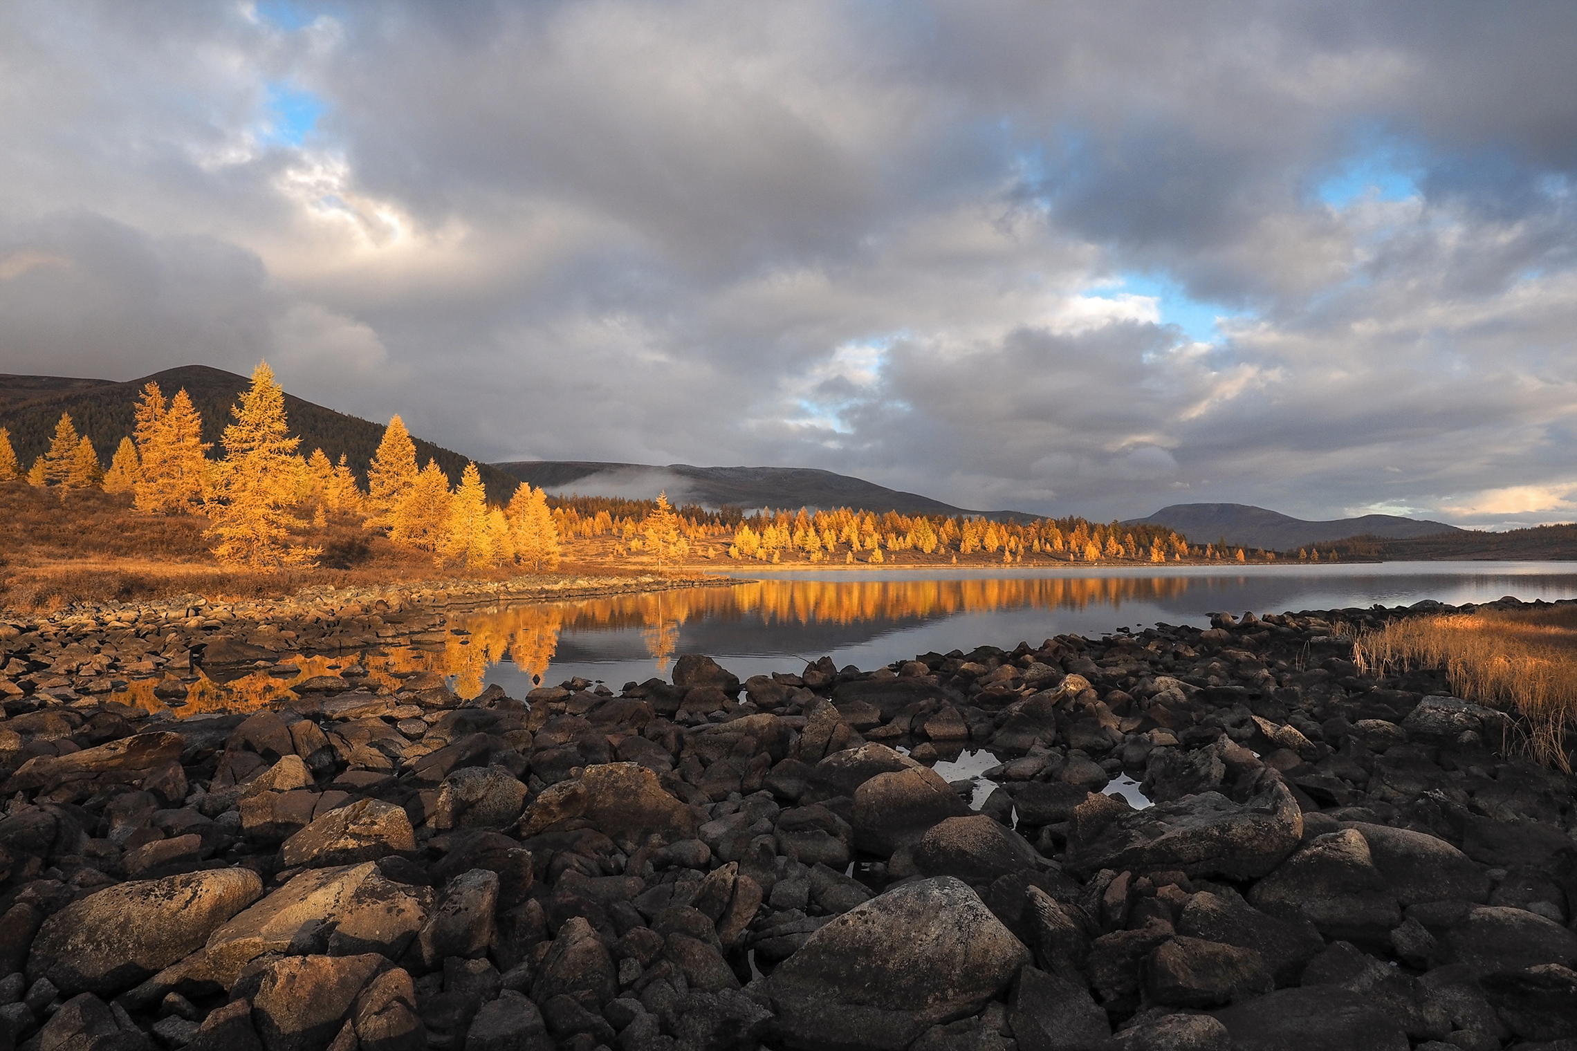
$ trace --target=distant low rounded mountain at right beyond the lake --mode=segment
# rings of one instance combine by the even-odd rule
[[[1249,504],[1172,504],[1148,518],[1132,518],[1123,525],[1159,525],[1176,529],[1194,544],[1213,544],[1225,537],[1238,547],[1292,551],[1310,544],[1345,540],[1353,536],[1377,536],[1405,540],[1440,533],[1465,533],[1445,522],[1402,518],[1399,515],[1363,515],[1304,522],[1292,515]]]

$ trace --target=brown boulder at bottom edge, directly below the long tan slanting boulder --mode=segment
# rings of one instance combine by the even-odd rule
[[[252,1023],[265,1051],[323,1051],[344,1027],[356,996],[390,961],[358,956],[285,956],[263,967]]]

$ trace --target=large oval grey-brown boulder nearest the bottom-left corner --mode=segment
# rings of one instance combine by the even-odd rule
[[[28,955],[28,977],[49,979],[68,996],[118,993],[200,949],[262,892],[263,881],[249,868],[106,887],[44,920]]]

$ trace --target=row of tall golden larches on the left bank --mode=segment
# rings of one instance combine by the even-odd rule
[[[298,452],[301,440],[289,433],[284,391],[267,362],[259,362],[230,416],[211,457],[213,443],[202,440],[202,416],[185,388],[166,399],[158,383],[148,383],[132,432],[107,468],[71,414],[62,413],[49,449],[25,471],[0,427],[0,481],[25,477],[57,488],[62,500],[93,487],[129,493],[142,514],[203,514],[221,564],[263,572],[314,564],[322,547],[311,542],[312,533],[325,529],[331,515],[431,551],[440,564],[558,566],[558,526],[542,490],[520,484],[506,506],[490,506],[473,462],[451,487],[432,459],[418,468],[416,443],[399,416],[383,432],[366,488],[345,454],[331,463],[322,449]]]

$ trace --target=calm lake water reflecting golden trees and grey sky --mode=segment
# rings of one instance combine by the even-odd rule
[[[486,682],[519,696],[530,676],[572,676],[618,689],[665,676],[675,655],[703,652],[741,679],[798,671],[831,655],[875,668],[927,651],[1031,646],[1066,632],[1206,626],[1210,613],[1451,605],[1501,596],[1577,597],[1572,563],[1385,563],[1180,566],[1107,570],[784,572],[738,588],[697,588],[478,613],[467,624]],[[525,610],[522,613],[522,610]],[[527,643],[517,640],[527,638]],[[508,654],[509,659],[500,660]],[[519,662],[519,663],[516,663]],[[475,671],[473,671],[475,674]]]

